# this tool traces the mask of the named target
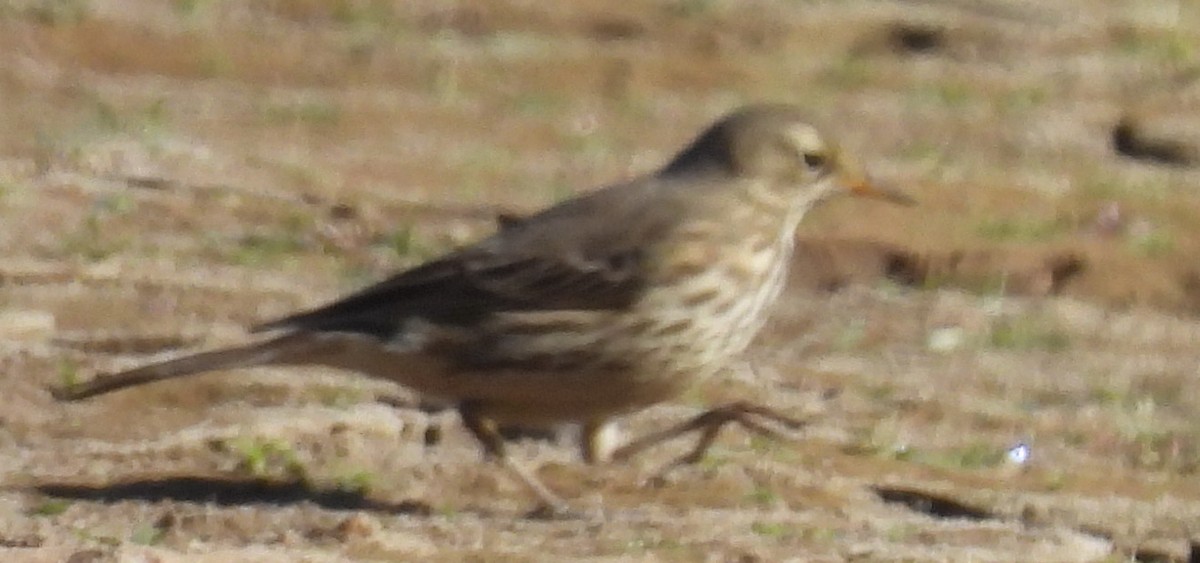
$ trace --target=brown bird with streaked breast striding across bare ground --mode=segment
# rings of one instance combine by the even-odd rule
[[[54,389],[77,401],[254,366],[326,366],[454,406],[485,455],[542,508],[565,503],[511,460],[503,427],[577,424],[584,461],[625,460],[730,421],[798,426],[767,407],[709,409],[616,448],[613,421],[736,361],[768,319],[805,212],[838,194],[911,204],[871,181],[800,108],[757,103],[713,122],[656,172],[604,186],[323,306],[252,327],[257,341]]]

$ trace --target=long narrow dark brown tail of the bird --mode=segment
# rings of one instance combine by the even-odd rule
[[[151,364],[120,373],[100,376],[79,384],[52,389],[50,394],[59,401],[80,401],[128,387],[210,371],[253,367],[268,364],[294,364],[307,355],[304,353],[306,340],[301,335],[284,335],[266,342],[200,352],[199,354]]]

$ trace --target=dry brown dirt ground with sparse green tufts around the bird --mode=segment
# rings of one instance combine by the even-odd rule
[[[1187,0],[0,2],[0,559],[1195,561],[1198,68]],[[799,444],[727,431],[647,483],[686,444],[521,441],[587,514],[544,521],[377,382],[47,391],[239,341],[761,100],[922,205],[815,212],[754,371],[625,431],[746,399],[810,417]]]

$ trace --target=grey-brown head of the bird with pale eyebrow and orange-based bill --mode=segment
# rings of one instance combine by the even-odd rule
[[[871,181],[803,112],[785,104],[750,106],[725,116],[680,151],[662,174],[752,180],[748,185],[758,196],[803,209],[840,193],[913,203]]]

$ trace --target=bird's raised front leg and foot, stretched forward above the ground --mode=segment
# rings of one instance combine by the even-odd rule
[[[700,432],[700,439],[696,442],[696,447],[668,465],[662,471],[662,473],[665,473],[673,467],[685,463],[695,463],[702,460],[704,454],[708,451],[708,448],[710,448],[713,442],[716,439],[716,435],[720,433],[721,429],[728,423],[738,423],[746,430],[761,436],[767,436],[784,442],[794,441],[794,438],[786,432],[768,424],[763,424],[764,420],[787,430],[797,430],[806,424],[804,420],[780,414],[779,412],[767,407],[749,402],[734,402],[706,411],[683,424],[637,438],[617,449],[617,451],[612,454],[612,460],[624,461],[640,454],[647,448],[658,445],[668,439],[689,432]]]

